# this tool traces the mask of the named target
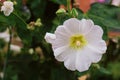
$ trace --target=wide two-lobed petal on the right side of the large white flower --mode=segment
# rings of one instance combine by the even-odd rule
[[[105,53],[106,52],[106,43],[102,40],[103,30],[100,26],[95,25],[92,30],[85,35],[85,38],[90,46],[90,48],[97,53]]]

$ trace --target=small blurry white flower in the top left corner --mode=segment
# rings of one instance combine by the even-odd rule
[[[9,16],[13,12],[13,2],[11,1],[4,1],[3,6],[1,7],[1,11],[4,12],[5,16]]]

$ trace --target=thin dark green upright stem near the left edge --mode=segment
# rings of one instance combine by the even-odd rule
[[[4,67],[3,67],[3,79],[2,80],[6,80],[6,76],[7,76],[7,64],[8,64],[8,57],[10,56],[10,45],[11,45],[11,41],[12,41],[12,28],[11,26],[9,27],[9,32],[10,32],[10,37],[9,37],[9,42],[8,42],[8,50],[7,50],[7,54],[6,54],[6,58],[5,58],[5,63],[4,63]]]

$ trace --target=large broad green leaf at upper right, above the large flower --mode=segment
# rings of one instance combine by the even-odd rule
[[[101,21],[108,28],[120,29],[120,7],[95,3],[91,6],[88,16]]]

